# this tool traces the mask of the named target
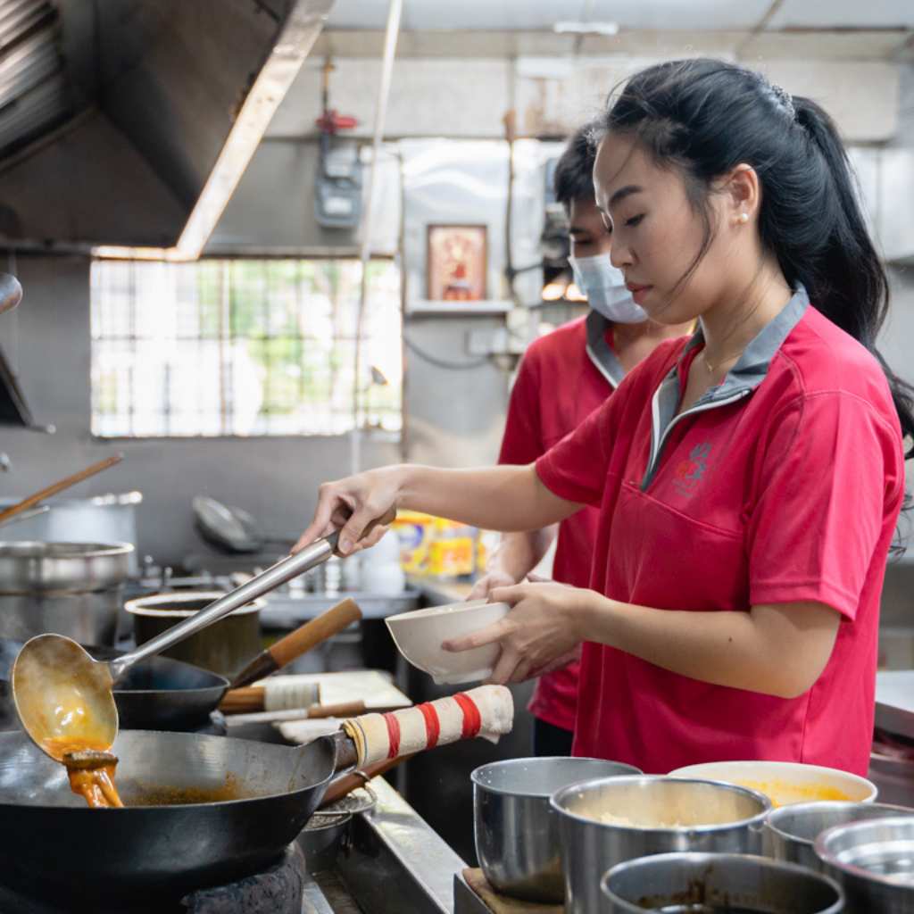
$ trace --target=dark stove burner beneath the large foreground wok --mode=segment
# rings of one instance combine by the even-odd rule
[[[297,844],[289,845],[282,857],[257,876],[215,888],[201,888],[184,898],[153,906],[122,901],[111,908],[93,908],[93,914],[301,914],[305,882],[304,855]],[[84,911],[79,887],[74,887],[72,904],[50,905],[0,886],[0,911],[16,914],[73,914]]]

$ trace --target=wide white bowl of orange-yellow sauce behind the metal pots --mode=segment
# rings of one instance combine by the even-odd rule
[[[878,792],[876,784],[856,774],[793,761],[710,761],[677,768],[670,775],[739,784],[764,793],[774,806],[835,800],[873,802]]]

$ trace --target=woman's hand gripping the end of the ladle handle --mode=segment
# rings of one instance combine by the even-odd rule
[[[336,548],[341,555],[374,546],[388,527],[375,527],[365,539],[361,538],[362,533],[373,520],[397,506],[401,481],[402,467],[388,466],[324,483],[317,491],[314,519],[292,547],[292,553],[316,539],[329,537],[335,530],[340,531]]]

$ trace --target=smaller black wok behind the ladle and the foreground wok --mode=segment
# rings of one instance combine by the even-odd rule
[[[18,729],[9,671],[21,642],[0,640],[0,729]],[[86,650],[96,660],[124,652],[111,647]],[[191,730],[202,727],[228,690],[228,679],[169,657],[147,657],[122,675],[114,702],[124,729]]]

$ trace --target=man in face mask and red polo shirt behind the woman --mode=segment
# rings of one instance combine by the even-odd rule
[[[664,339],[682,336],[687,324],[664,326],[647,320],[632,302],[622,272],[610,262],[611,236],[593,196],[594,149],[589,127],[571,138],[558,160],[555,193],[569,216],[575,282],[590,304],[586,317],[563,324],[531,344],[517,373],[500,463],[532,463],[578,428]],[[599,512],[587,508],[558,525],[553,577],[573,587],[590,583]],[[546,554],[555,529],[505,534],[471,599],[523,579]],[[540,677],[530,711],[534,753],[570,755],[577,712],[579,661]]]

